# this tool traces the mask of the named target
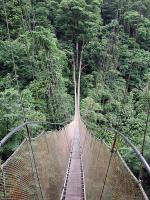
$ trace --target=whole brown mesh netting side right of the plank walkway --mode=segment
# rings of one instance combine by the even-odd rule
[[[110,160],[107,145],[80,124],[82,160],[87,200],[99,200]],[[102,200],[144,200],[144,192],[118,153],[113,153]]]

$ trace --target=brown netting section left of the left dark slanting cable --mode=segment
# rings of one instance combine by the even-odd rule
[[[25,140],[2,167],[7,200],[38,199],[28,141]]]

